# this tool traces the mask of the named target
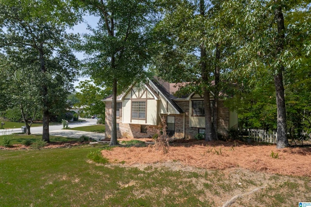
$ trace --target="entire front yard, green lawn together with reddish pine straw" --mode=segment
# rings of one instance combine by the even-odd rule
[[[297,173],[310,171],[310,148],[278,151],[275,146],[230,144],[234,143],[175,143],[164,155],[152,145],[111,149],[87,143],[0,150],[0,202],[34,207],[292,207],[311,201],[311,174]],[[109,159],[108,164],[87,158],[97,150]],[[272,158],[270,150],[278,158]],[[254,168],[247,169],[239,156]],[[304,165],[295,171],[288,166],[271,170],[291,160],[298,162],[292,168],[300,161]]]

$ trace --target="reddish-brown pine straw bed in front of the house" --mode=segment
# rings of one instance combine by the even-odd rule
[[[237,142],[182,141],[173,143],[167,154],[148,147],[115,147],[102,154],[115,162],[145,164],[178,160],[184,165],[206,169],[240,167],[280,175],[311,176],[311,147],[276,149],[276,145],[254,145]],[[187,143],[188,142],[188,143]],[[258,144],[258,143],[257,143]],[[271,153],[278,153],[278,159]]]

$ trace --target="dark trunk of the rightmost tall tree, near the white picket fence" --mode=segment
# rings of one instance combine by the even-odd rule
[[[281,54],[284,48],[284,39],[285,39],[284,17],[280,5],[276,6],[274,13],[277,22],[276,55],[279,55]],[[276,74],[274,75],[274,84],[276,87],[276,110],[277,110],[276,148],[284,148],[289,145],[286,137],[287,126],[286,126],[284,85],[283,85],[283,70],[284,65],[281,64],[279,68],[276,69]]]

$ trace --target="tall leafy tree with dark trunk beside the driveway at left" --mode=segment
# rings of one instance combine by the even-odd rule
[[[44,141],[50,141],[49,119],[52,102],[58,102],[70,88],[77,61],[69,50],[72,35],[68,26],[77,21],[66,1],[10,1],[0,3],[0,46],[7,54],[22,53],[32,56],[40,80],[40,102],[43,113]],[[65,92],[64,92],[65,91]]]

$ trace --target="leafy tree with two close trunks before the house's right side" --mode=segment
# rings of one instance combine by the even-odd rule
[[[161,52],[155,58],[158,76],[190,82],[187,87],[204,96],[206,141],[218,139],[218,101],[224,82],[221,74],[227,68],[226,56],[234,48],[227,34],[231,20],[223,18],[222,2],[169,1],[157,26],[162,33]]]

